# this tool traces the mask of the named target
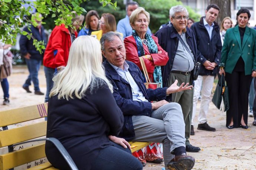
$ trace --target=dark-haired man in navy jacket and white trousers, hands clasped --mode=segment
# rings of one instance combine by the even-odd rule
[[[215,128],[208,125],[206,115],[209,109],[209,103],[211,101],[210,96],[213,88],[214,77],[217,74],[217,65],[219,65],[221,57],[222,45],[220,38],[220,27],[215,22],[219,11],[220,8],[216,4],[210,4],[206,8],[206,16],[201,17],[199,22],[196,22],[191,26],[197,42],[197,59],[202,65],[198,79],[195,81],[194,85],[191,135],[194,135],[193,119],[196,115],[196,105],[198,97],[200,96],[202,84],[201,105],[198,115],[197,129],[211,132],[216,131]]]

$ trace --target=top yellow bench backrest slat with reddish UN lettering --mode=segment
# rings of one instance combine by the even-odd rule
[[[47,116],[48,103],[0,112],[0,127]]]

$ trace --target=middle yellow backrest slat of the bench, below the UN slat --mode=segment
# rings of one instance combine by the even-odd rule
[[[46,135],[47,122],[0,131],[0,147],[9,146]]]

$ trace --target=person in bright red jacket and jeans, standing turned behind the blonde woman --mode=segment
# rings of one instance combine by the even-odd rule
[[[60,26],[55,26],[52,30],[43,57],[47,88],[45,102],[48,102],[49,93],[53,86],[53,75],[55,72],[65,68],[68,62],[69,48],[77,37],[76,30],[82,25],[83,20],[84,16],[75,13],[75,18],[72,19],[72,26],[75,29],[66,28],[64,24],[61,24]]]

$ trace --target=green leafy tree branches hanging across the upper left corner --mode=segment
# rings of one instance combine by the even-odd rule
[[[0,0],[0,39],[5,44],[15,44],[17,34],[26,35],[27,38],[33,39],[33,44],[38,51],[42,52],[45,49],[43,41],[37,41],[31,33],[23,31],[22,28],[32,24],[37,26],[33,19],[32,11],[34,7],[36,11],[42,14],[43,17],[52,15],[51,17],[58,17],[55,20],[56,25],[65,24],[66,27],[72,26],[72,18],[75,11],[76,14],[85,14],[86,10],[80,7],[80,4],[86,0]],[[116,2],[111,0],[99,0],[102,6],[112,6],[116,8]],[[25,4],[28,7],[25,7]],[[39,19],[39,16],[36,16]],[[41,18],[42,20],[42,18]],[[29,31],[30,28],[28,27]]]

